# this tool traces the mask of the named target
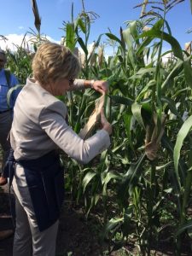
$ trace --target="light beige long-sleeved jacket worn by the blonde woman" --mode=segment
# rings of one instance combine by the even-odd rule
[[[76,80],[81,88],[82,80]],[[108,132],[97,131],[87,140],[81,139],[66,122],[66,105],[44,90],[33,79],[17,98],[10,132],[16,160],[36,159],[61,148],[80,163],[87,163],[110,145]]]

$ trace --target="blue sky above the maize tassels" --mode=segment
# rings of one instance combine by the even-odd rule
[[[172,36],[177,38],[182,48],[186,42],[192,40],[192,32],[187,31],[192,27],[192,15],[190,11],[190,0],[178,4],[167,15],[166,20],[172,29]],[[82,0],[37,0],[38,12],[41,17],[41,32],[60,41],[65,32],[61,30],[63,21],[71,20],[71,7],[74,6],[74,18],[82,10]],[[126,20],[137,20],[141,8],[134,7],[143,3],[143,0],[84,0],[86,11],[93,11],[99,17],[91,25],[90,44],[100,34],[111,32],[119,37],[120,26],[125,29]],[[1,0],[0,35],[9,38],[9,47],[12,43],[20,44],[23,35],[34,26],[31,0]],[[5,47],[3,41],[0,46]]]

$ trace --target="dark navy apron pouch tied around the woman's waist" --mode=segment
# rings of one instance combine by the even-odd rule
[[[55,151],[36,160],[17,160],[23,166],[40,231],[55,223],[64,199],[64,170]]]

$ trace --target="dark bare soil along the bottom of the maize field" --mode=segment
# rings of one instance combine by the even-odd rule
[[[15,198],[13,194],[11,194],[11,201],[14,206]],[[13,215],[15,216],[15,212],[13,212]],[[137,247],[134,247],[133,243],[110,254],[101,253],[108,251],[108,244],[106,243],[101,247],[97,236],[99,224],[96,223],[94,216],[92,215],[88,220],[85,219],[82,209],[75,206],[70,198],[67,199],[66,196],[61,211],[55,256],[139,256]],[[14,229],[14,221],[9,210],[9,188],[8,185],[5,185],[0,187],[0,230],[8,229]],[[0,256],[12,256],[13,240],[14,236],[10,236],[0,241]],[[192,255],[188,252],[187,247],[190,247],[189,242],[184,249],[186,252],[182,253],[181,256]],[[174,256],[172,247],[165,242],[160,245],[158,250],[152,251],[151,255]]]

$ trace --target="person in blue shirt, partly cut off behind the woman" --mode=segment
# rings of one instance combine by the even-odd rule
[[[7,178],[3,177],[3,167],[9,156],[10,143],[9,143],[9,131],[13,120],[13,108],[15,106],[16,97],[19,94],[19,90],[15,90],[10,99],[10,106],[7,102],[7,93],[9,88],[19,84],[13,73],[8,73],[4,69],[7,62],[7,57],[3,49],[0,49],[0,145],[3,153],[2,168],[0,170],[0,186],[7,183]]]

